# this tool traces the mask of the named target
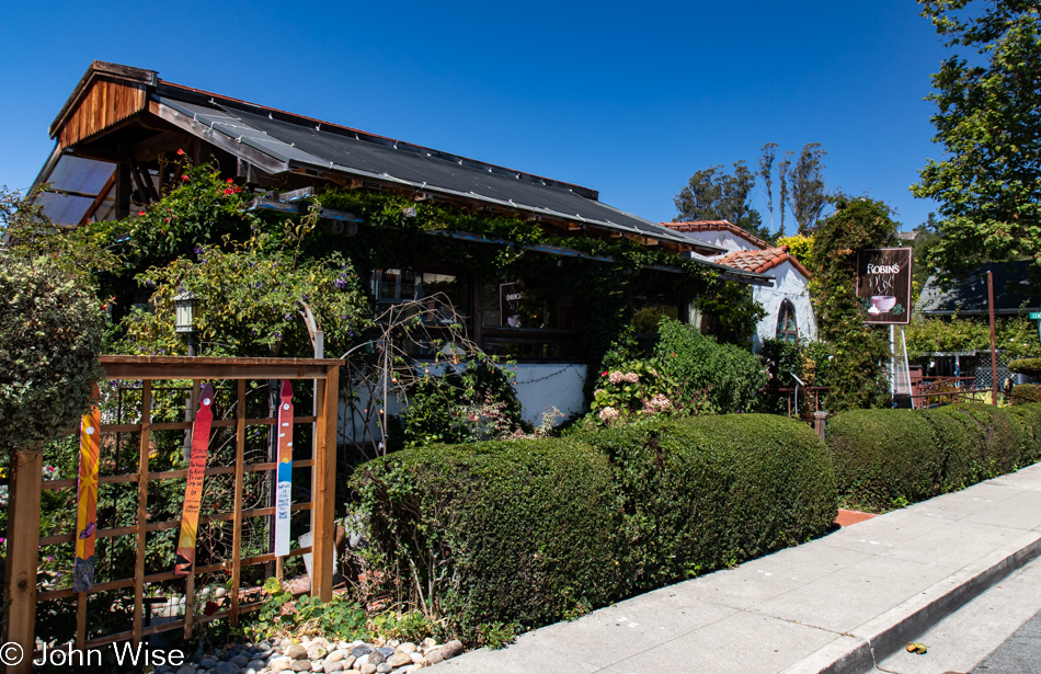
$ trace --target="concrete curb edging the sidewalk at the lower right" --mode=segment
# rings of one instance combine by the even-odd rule
[[[985,590],[1041,557],[1041,536],[1015,552],[998,550],[934,584],[863,624],[782,674],[863,674],[918,635],[954,613]],[[855,643],[850,641],[856,640]]]

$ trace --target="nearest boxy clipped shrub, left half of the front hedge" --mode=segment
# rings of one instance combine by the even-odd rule
[[[399,599],[450,629],[527,627],[606,603],[618,584],[606,457],[559,438],[438,445],[363,465],[353,485]]]

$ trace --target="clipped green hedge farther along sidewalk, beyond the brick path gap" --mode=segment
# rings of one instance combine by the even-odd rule
[[[827,423],[839,500],[884,511],[1041,459],[1041,404],[854,410]]]

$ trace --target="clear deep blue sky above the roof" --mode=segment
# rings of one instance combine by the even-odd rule
[[[32,183],[101,59],[585,185],[652,220],[699,169],[821,142],[831,189],[910,229],[935,210],[908,185],[940,157],[923,96],[945,55],[912,0],[15,3],[0,185]],[[767,220],[762,185],[755,205]]]

